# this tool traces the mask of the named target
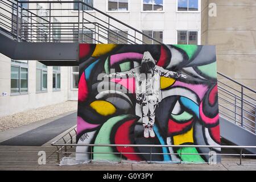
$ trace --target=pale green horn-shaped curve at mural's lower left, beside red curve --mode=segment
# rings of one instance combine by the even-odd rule
[[[108,119],[102,125],[100,131],[98,132],[98,135],[94,141],[94,144],[111,144],[110,142],[110,134],[112,131],[113,126],[121,121],[122,119],[125,119],[129,117],[129,114],[119,115],[117,117],[113,117]],[[95,146],[93,147],[93,152],[114,152],[112,147],[100,147]],[[105,159],[105,160],[113,160],[118,161],[120,160],[120,157],[115,154],[93,154],[93,159]]]

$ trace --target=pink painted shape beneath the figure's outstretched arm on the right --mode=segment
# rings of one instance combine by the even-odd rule
[[[202,84],[187,84],[184,82],[180,82],[180,81],[175,81],[173,86],[183,86],[185,88],[191,89],[193,92],[195,92],[197,94],[197,96],[199,96],[200,101],[203,100],[205,93],[208,90],[208,86],[207,85],[202,85]]]

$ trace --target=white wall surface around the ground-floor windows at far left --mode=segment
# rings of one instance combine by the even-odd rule
[[[48,67],[47,92],[36,93],[36,61],[28,61],[28,93],[12,96],[11,59],[0,54],[0,65],[0,117],[68,100],[68,67],[60,68],[60,91],[53,91],[52,67]]]

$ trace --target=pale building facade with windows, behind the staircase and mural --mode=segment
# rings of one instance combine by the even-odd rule
[[[164,44],[201,44],[200,0],[84,2]],[[47,9],[46,3],[38,3],[37,6]],[[68,6],[72,9],[71,6],[75,5],[59,3],[55,6],[60,9]],[[98,15],[96,11],[86,11],[94,16]],[[70,10],[67,14],[72,16],[77,11]],[[72,17],[68,19],[72,21]],[[56,20],[62,21],[61,18]],[[154,43],[142,36],[140,39],[148,44]],[[0,64],[0,117],[67,100],[77,100],[77,67],[45,67],[38,61],[11,60],[2,54]]]

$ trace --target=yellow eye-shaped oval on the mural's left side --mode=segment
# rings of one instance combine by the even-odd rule
[[[106,101],[93,101],[90,106],[101,115],[111,115],[117,110],[113,104]]]

